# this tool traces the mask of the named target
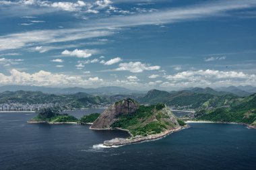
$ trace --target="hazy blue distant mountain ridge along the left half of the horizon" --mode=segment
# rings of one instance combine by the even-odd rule
[[[132,94],[132,93],[146,93],[146,91],[136,91],[126,89],[124,87],[98,87],[98,88],[82,88],[82,87],[38,87],[38,86],[26,86],[26,85],[5,85],[0,87],[0,93],[4,91],[41,91],[43,93],[51,94],[74,94],[74,93],[88,93],[94,95],[117,95],[117,94]]]

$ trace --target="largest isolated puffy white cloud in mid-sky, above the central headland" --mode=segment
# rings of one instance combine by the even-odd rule
[[[119,64],[116,71],[130,71],[131,73],[141,73],[143,71],[159,70],[160,66],[150,66],[141,62],[123,62]]]

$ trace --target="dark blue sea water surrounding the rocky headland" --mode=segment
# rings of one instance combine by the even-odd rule
[[[102,148],[104,140],[128,134],[75,124],[26,123],[34,116],[0,113],[1,170],[256,169],[256,130],[243,125],[190,124],[160,140]]]

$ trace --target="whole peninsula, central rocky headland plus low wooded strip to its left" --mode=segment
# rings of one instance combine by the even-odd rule
[[[80,119],[68,114],[59,114],[56,109],[41,110],[28,123],[92,124],[92,130],[125,130],[129,138],[114,138],[104,141],[105,146],[120,146],[162,138],[187,125],[177,119],[164,104],[140,105],[133,99],[123,99],[110,105],[102,114],[90,114]]]

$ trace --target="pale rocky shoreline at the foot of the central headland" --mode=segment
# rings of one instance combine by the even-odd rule
[[[131,135],[130,138],[113,138],[111,140],[105,140],[103,142],[103,145],[104,146],[123,146],[126,144],[135,144],[135,143],[139,143],[139,142],[147,142],[147,141],[157,140],[157,139],[167,136],[168,134],[172,134],[172,132],[178,132],[178,131],[183,130],[188,127],[189,126],[180,127],[180,128],[174,129],[174,130],[166,130],[159,134],[150,134],[148,136],[132,136]],[[100,129],[97,129],[97,130],[100,130]],[[104,130],[106,130],[106,129],[104,129]],[[121,129],[121,128],[108,129],[108,130],[124,130],[124,131],[129,132],[129,130]],[[131,134],[131,132],[129,132],[129,134]]]

